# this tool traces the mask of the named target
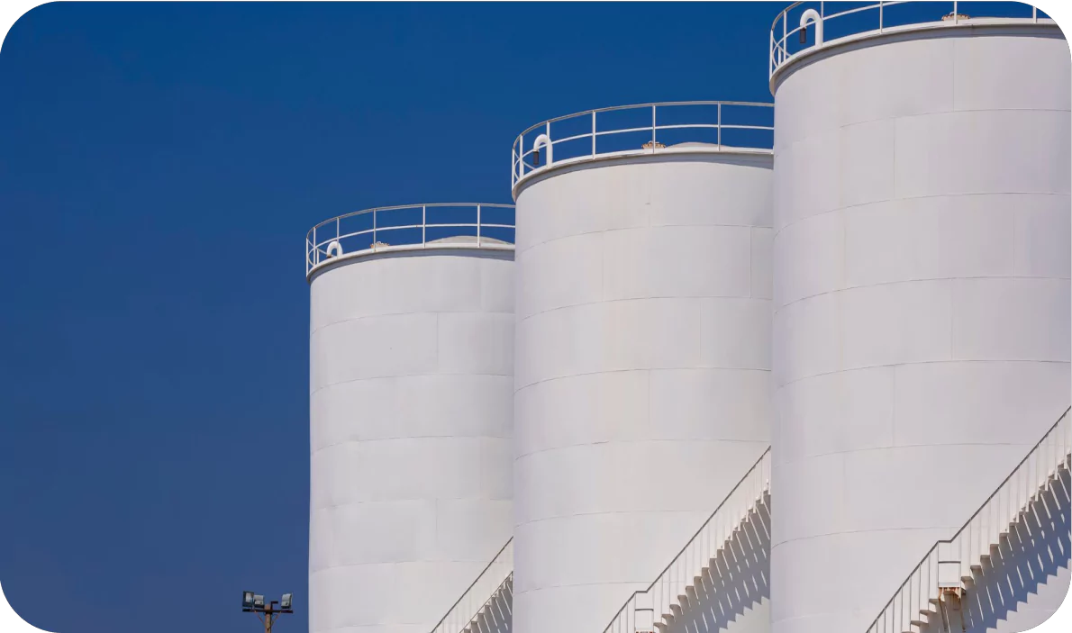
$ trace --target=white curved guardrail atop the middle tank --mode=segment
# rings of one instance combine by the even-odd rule
[[[770,153],[773,108],[768,103],[682,101],[599,108],[544,121],[513,140],[510,186],[551,165],[606,156],[727,150]],[[686,142],[704,145],[674,147]]]

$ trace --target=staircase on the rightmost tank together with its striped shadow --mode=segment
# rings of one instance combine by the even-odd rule
[[[1023,633],[1053,617],[1072,568],[1070,415],[927,552],[867,633]]]

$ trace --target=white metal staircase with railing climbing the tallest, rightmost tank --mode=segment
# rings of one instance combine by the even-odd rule
[[[1066,409],[953,538],[927,552],[867,633],[971,630],[971,593],[992,570],[1036,541],[1069,533],[1070,411]],[[1049,549],[1069,556],[1067,545]]]

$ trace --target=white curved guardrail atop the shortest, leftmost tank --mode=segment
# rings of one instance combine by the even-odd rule
[[[419,248],[513,248],[513,205],[376,207],[326,220],[306,235],[306,276],[339,258]]]

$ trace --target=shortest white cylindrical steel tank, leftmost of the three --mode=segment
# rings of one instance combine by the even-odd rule
[[[312,633],[429,633],[510,537],[512,245],[407,209],[307,240]]]

